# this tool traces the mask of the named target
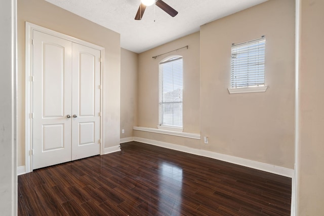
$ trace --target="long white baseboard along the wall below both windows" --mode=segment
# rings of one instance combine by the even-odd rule
[[[270,173],[274,173],[274,174],[278,174],[278,175],[282,175],[282,176],[287,176],[287,177],[291,177],[291,178],[294,176],[293,169],[275,166],[275,165],[266,164],[266,163],[261,163],[261,162],[257,162],[257,161],[252,161],[252,160],[248,160],[248,159],[244,159],[244,158],[238,158],[238,157],[219,154],[216,152],[210,152],[210,151],[206,151],[206,150],[193,149],[193,148],[189,148],[189,147],[185,147],[185,146],[175,145],[175,144],[168,143],[168,142],[161,142],[161,141],[156,141],[156,140],[146,139],[146,138],[141,138],[141,137],[134,137],[134,141],[143,142],[143,143],[147,143],[147,144],[154,145],[154,146],[164,147],[167,149],[173,149],[173,150],[177,150],[177,151],[181,151],[181,152],[186,152],[186,153],[190,153],[190,154],[194,154],[194,155],[213,158],[213,159],[217,159],[217,160],[221,160],[221,161],[226,161],[229,163],[246,166],[246,167],[250,167],[250,168],[254,168],[254,169],[258,169],[258,170],[262,170],[262,171],[266,171],[266,172],[270,172]]]

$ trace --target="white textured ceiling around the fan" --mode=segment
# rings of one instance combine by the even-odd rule
[[[120,46],[141,53],[199,30],[213,20],[267,0],[164,0],[179,12],[175,17],[156,6],[135,20],[140,0],[46,0],[58,7],[120,33]]]

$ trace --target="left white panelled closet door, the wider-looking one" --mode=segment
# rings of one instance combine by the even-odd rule
[[[33,169],[71,160],[71,48],[33,31]]]

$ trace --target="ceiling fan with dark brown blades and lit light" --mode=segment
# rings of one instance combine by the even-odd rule
[[[135,16],[135,20],[141,20],[146,7],[153,5],[154,3],[157,7],[164,10],[172,17],[175,17],[178,14],[178,11],[171,8],[167,3],[163,2],[162,0],[141,0],[140,7],[138,8],[137,14]]]

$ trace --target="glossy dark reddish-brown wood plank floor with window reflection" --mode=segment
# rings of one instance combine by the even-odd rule
[[[290,215],[291,178],[139,142],[18,176],[18,215]]]

